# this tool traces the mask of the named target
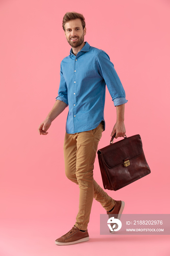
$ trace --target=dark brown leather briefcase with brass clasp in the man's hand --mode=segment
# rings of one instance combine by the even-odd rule
[[[140,135],[124,137],[123,140],[97,151],[103,186],[118,190],[139,180],[151,172],[142,148]]]

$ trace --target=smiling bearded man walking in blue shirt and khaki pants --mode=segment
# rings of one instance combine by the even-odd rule
[[[51,122],[69,106],[64,140],[65,173],[80,188],[79,210],[73,228],[55,240],[57,245],[69,245],[89,240],[87,226],[93,197],[107,214],[121,214],[123,201],[116,201],[93,179],[93,165],[98,142],[105,130],[104,103],[107,84],[117,120],[111,136],[125,135],[124,105],[127,102],[120,79],[103,50],[84,42],[86,34],[84,16],[67,12],[63,17],[63,30],[72,46],[69,56],[61,62],[60,85],[53,109],[38,128],[47,135]]]

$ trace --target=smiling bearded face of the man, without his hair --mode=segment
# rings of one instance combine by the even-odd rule
[[[84,44],[86,28],[83,29],[81,19],[70,20],[65,23],[65,36],[67,42],[74,48]]]

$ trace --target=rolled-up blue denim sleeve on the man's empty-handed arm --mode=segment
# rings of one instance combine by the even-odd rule
[[[62,73],[62,65],[60,67],[60,83],[59,83],[58,96],[55,99],[56,101],[57,99],[59,101],[63,101],[64,103],[67,104],[67,106],[69,105],[68,96],[67,96],[67,85]]]

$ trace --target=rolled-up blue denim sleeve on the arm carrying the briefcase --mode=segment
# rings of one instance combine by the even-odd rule
[[[119,106],[126,103],[127,99],[125,98],[123,85],[108,54],[101,50],[96,57],[96,61],[98,72],[105,80],[114,105]]]

